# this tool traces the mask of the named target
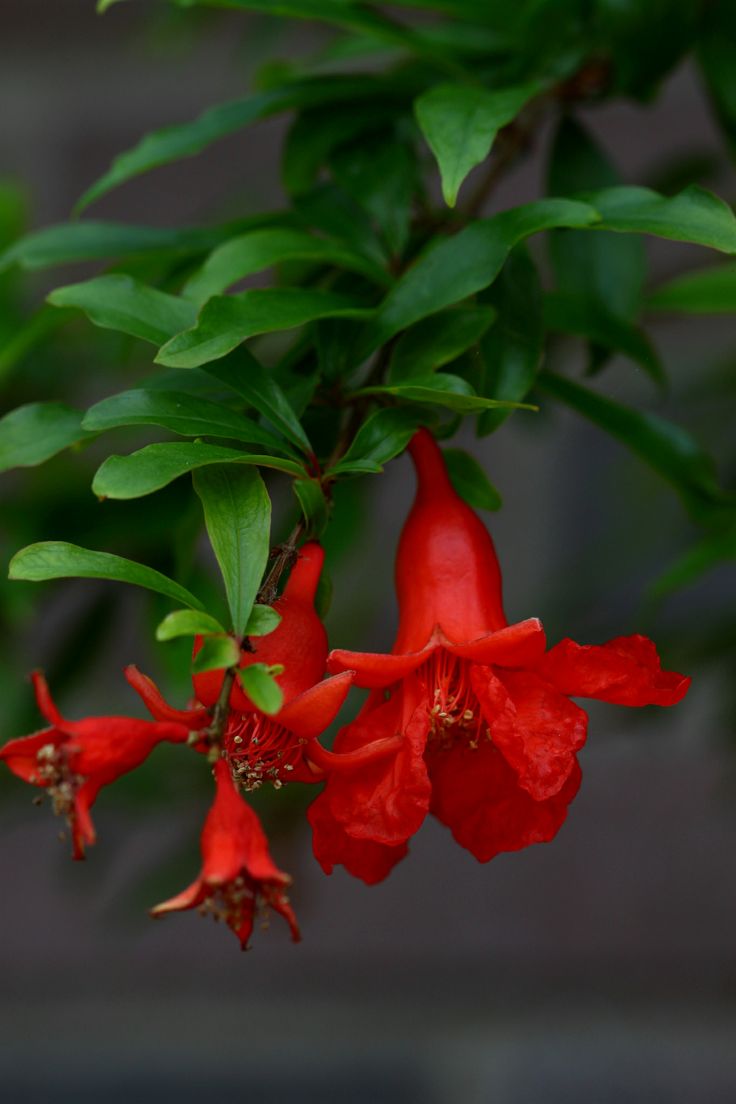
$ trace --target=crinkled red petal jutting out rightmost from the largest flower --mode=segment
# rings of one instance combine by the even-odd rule
[[[676,671],[663,671],[654,644],[639,635],[601,645],[561,640],[538,671],[569,698],[599,698],[616,705],[674,705],[691,682]]]

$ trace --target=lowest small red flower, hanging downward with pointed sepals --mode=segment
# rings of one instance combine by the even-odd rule
[[[152,916],[199,909],[224,920],[245,951],[256,910],[274,909],[298,942],[299,925],[285,890],[291,879],[268,853],[258,817],[238,795],[225,760],[215,764],[215,799],[202,830],[202,870],[183,893],[151,910]]]

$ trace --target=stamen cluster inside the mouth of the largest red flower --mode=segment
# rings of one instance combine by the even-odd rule
[[[417,675],[429,694],[430,741],[440,749],[460,742],[477,749],[481,740],[491,739],[465,660],[437,648]]]

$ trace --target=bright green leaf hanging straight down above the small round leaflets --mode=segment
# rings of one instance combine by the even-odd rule
[[[198,471],[194,490],[225,583],[233,629],[242,636],[268,562],[270,499],[255,468],[218,465]]]

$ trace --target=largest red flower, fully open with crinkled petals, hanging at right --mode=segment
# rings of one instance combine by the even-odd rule
[[[337,650],[374,692],[335,753],[376,739],[397,750],[335,774],[310,809],[314,852],[367,882],[406,852],[427,811],[486,862],[551,840],[580,782],[587,715],[570,697],[671,705],[690,679],[662,671],[651,640],[563,640],[545,655],[536,618],[509,625],[488,531],[455,492],[441,452],[419,431],[409,452],[417,495],[396,560],[399,629],[391,655]],[[397,739],[399,737],[399,739]]]

